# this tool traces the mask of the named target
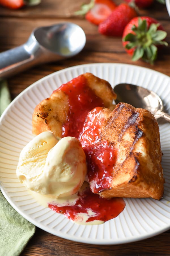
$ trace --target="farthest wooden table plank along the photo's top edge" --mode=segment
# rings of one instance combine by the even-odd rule
[[[24,7],[19,10],[11,10],[0,7],[0,17],[30,17],[30,18],[73,18],[74,12],[80,9],[82,3],[89,3],[90,0],[42,0],[41,3],[34,7]],[[121,0],[114,0],[118,5]],[[139,9],[139,16],[147,15],[155,19],[169,19],[166,6],[154,1],[154,4],[148,9]]]

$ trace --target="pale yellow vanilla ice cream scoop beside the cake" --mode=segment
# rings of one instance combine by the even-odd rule
[[[16,175],[31,191],[58,198],[75,194],[87,173],[78,139],[42,132],[21,151]]]

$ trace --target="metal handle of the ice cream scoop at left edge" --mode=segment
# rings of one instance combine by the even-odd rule
[[[26,44],[0,53],[0,78],[7,78],[23,71],[33,63],[34,55],[27,51]]]

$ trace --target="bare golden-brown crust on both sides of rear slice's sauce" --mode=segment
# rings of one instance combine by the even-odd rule
[[[91,73],[82,74],[86,78],[86,84],[104,102],[104,107],[113,109],[116,99],[109,82],[96,77]],[[41,101],[33,112],[32,132],[35,135],[43,131],[50,131],[57,137],[61,137],[62,125],[66,122],[69,111],[68,97],[62,91],[56,90],[52,95]]]

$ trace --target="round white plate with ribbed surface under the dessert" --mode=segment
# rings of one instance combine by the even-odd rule
[[[19,183],[16,166],[21,149],[33,138],[31,118],[34,107],[62,83],[91,72],[114,85],[141,85],[156,92],[170,112],[170,77],[127,64],[87,64],[63,69],[25,89],[8,106],[0,119],[0,182],[8,202],[37,227],[66,239],[92,244],[119,244],[145,239],[170,228],[170,124],[160,124],[165,193],[161,201],[125,199],[125,210],[102,225],[74,224],[63,215],[39,205]]]

